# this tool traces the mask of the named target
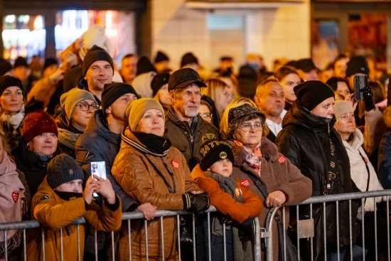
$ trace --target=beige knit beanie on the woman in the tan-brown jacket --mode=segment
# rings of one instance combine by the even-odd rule
[[[163,114],[163,120],[164,120],[163,107],[161,107],[161,104],[154,99],[141,98],[139,100],[134,100],[129,105],[129,107],[127,108],[126,115],[127,117],[129,117],[129,127],[132,130],[132,132],[135,131],[144,113],[150,109],[160,110],[161,113]]]

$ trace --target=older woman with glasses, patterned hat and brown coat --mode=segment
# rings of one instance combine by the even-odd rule
[[[276,145],[266,138],[268,129],[263,112],[245,103],[229,111],[228,122],[224,138],[232,145],[234,179],[257,194],[268,208],[295,205],[311,196],[311,180],[279,154]],[[269,193],[266,198],[254,181],[261,181]],[[262,228],[269,213],[268,208],[263,208],[258,216]],[[284,208],[287,226],[289,208]],[[282,208],[279,215],[282,216]],[[277,222],[273,223],[273,239],[273,260],[279,260]]]

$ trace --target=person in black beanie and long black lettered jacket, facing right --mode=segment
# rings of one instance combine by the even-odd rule
[[[336,122],[333,112],[333,90],[321,81],[310,80],[294,87],[294,92],[297,100],[286,112],[282,122],[283,129],[277,135],[276,144],[279,152],[297,166],[304,176],[312,180],[312,196],[358,192],[350,177],[348,154],[341,137],[336,129],[333,129]],[[323,238],[326,231],[323,230],[323,218],[326,218],[327,254],[335,257],[331,260],[336,260],[337,236],[341,260],[350,245],[349,215],[353,223],[352,243],[355,244],[357,203],[352,201],[351,213],[348,201],[341,201],[338,206],[338,220],[335,203],[326,203],[326,217],[323,217],[323,206],[314,207],[315,260],[324,259]],[[301,209],[301,214],[309,216],[309,207],[305,207]]]

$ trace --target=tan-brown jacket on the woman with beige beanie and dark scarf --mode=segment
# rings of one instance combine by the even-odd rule
[[[124,135],[141,144],[132,131],[128,128]],[[141,144],[141,146],[143,146]],[[169,193],[166,183],[156,172],[158,169],[171,187],[173,193]],[[170,175],[166,166],[171,169]],[[154,156],[146,154],[129,144],[122,142],[121,149],[115,158],[112,167],[112,175],[129,196],[132,196],[139,204],[151,203],[157,209],[178,211],[183,210],[183,194],[189,191],[199,191],[200,188],[190,176],[186,159],[178,149],[171,147],[166,156]],[[165,260],[177,259],[177,230],[176,218],[163,219],[164,228],[164,258]],[[145,260],[145,227],[144,220],[132,222],[132,260]],[[117,254],[120,260],[129,259],[128,229],[124,226],[121,230]],[[149,260],[161,260],[161,233],[159,219],[148,223],[148,254]]]

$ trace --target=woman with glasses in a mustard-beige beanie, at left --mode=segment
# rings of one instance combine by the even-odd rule
[[[90,92],[79,88],[61,95],[60,105],[64,112],[55,119],[58,126],[58,147],[75,159],[76,140],[85,132],[88,119],[99,105]]]

